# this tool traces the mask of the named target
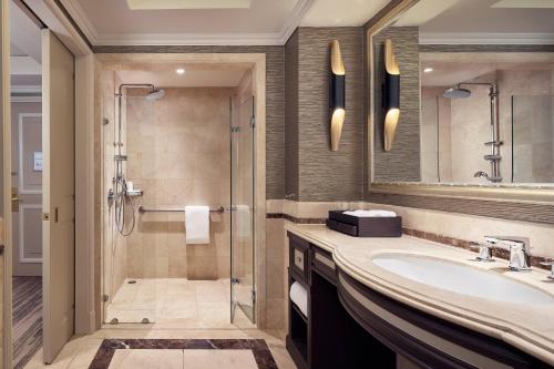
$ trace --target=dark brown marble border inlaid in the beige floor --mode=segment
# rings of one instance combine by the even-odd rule
[[[90,369],[106,369],[115,350],[252,350],[259,369],[277,369],[263,339],[104,339]]]

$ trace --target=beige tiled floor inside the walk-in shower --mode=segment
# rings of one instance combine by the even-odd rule
[[[130,283],[130,281],[135,283]],[[177,328],[253,328],[237,308],[230,322],[229,279],[125,279],[106,307],[105,322],[155,322]]]

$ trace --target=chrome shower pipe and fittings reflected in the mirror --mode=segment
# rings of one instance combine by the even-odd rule
[[[491,163],[491,173],[486,174],[483,171],[475,173],[475,177],[485,177],[492,183],[502,182],[502,174],[500,172],[500,161],[502,155],[500,153],[500,146],[503,142],[500,141],[500,114],[499,114],[499,88],[496,83],[490,82],[461,82],[458,83],[456,89],[462,85],[486,85],[489,86],[489,98],[491,100],[491,141],[485,142],[485,145],[491,146],[491,153],[484,155],[484,160]]]

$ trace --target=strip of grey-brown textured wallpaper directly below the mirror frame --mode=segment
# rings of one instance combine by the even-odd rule
[[[554,224],[554,204],[496,202],[472,198],[378,193],[370,193],[367,196],[367,201],[378,204],[479,215],[507,221]]]

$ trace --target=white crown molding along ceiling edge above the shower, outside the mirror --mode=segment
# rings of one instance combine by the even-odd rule
[[[99,33],[76,0],[60,0],[91,44],[98,45],[284,45],[314,0],[298,0],[279,32],[269,33]]]

